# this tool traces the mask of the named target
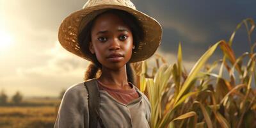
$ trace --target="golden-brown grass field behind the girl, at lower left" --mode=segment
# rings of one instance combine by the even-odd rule
[[[40,106],[1,106],[0,127],[4,128],[43,128],[53,127],[60,100],[26,100],[29,105]]]

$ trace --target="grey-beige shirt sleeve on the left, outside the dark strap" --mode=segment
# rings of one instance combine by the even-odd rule
[[[86,88],[72,86],[63,95],[54,128],[88,127],[88,94]]]

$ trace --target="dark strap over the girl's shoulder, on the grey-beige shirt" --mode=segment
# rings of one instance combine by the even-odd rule
[[[96,128],[99,122],[100,126],[104,128],[102,120],[99,116],[99,87],[95,79],[84,82],[84,86],[88,92],[88,108],[89,108],[89,127]]]

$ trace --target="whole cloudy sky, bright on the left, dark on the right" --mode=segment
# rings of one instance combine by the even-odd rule
[[[228,40],[243,19],[256,20],[254,0],[132,2],[163,27],[157,53],[173,64],[180,42],[188,69],[211,45]],[[61,47],[58,28],[84,3],[86,0],[0,0],[0,91],[10,96],[20,91],[25,97],[58,97],[61,90],[83,81],[88,61]],[[232,48],[239,56],[249,51],[249,46],[242,27]],[[211,60],[222,55],[217,50]]]

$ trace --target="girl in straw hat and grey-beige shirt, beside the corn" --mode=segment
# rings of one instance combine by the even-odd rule
[[[60,44],[92,63],[85,82],[65,92],[54,127],[92,127],[95,120],[97,127],[149,127],[150,103],[134,85],[129,63],[152,56],[161,35],[160,24],[129,0],[89,0],[63,20]],[[84,84],[97,87],[99,97]],[[99,108],[90,107],[93,100]]]

